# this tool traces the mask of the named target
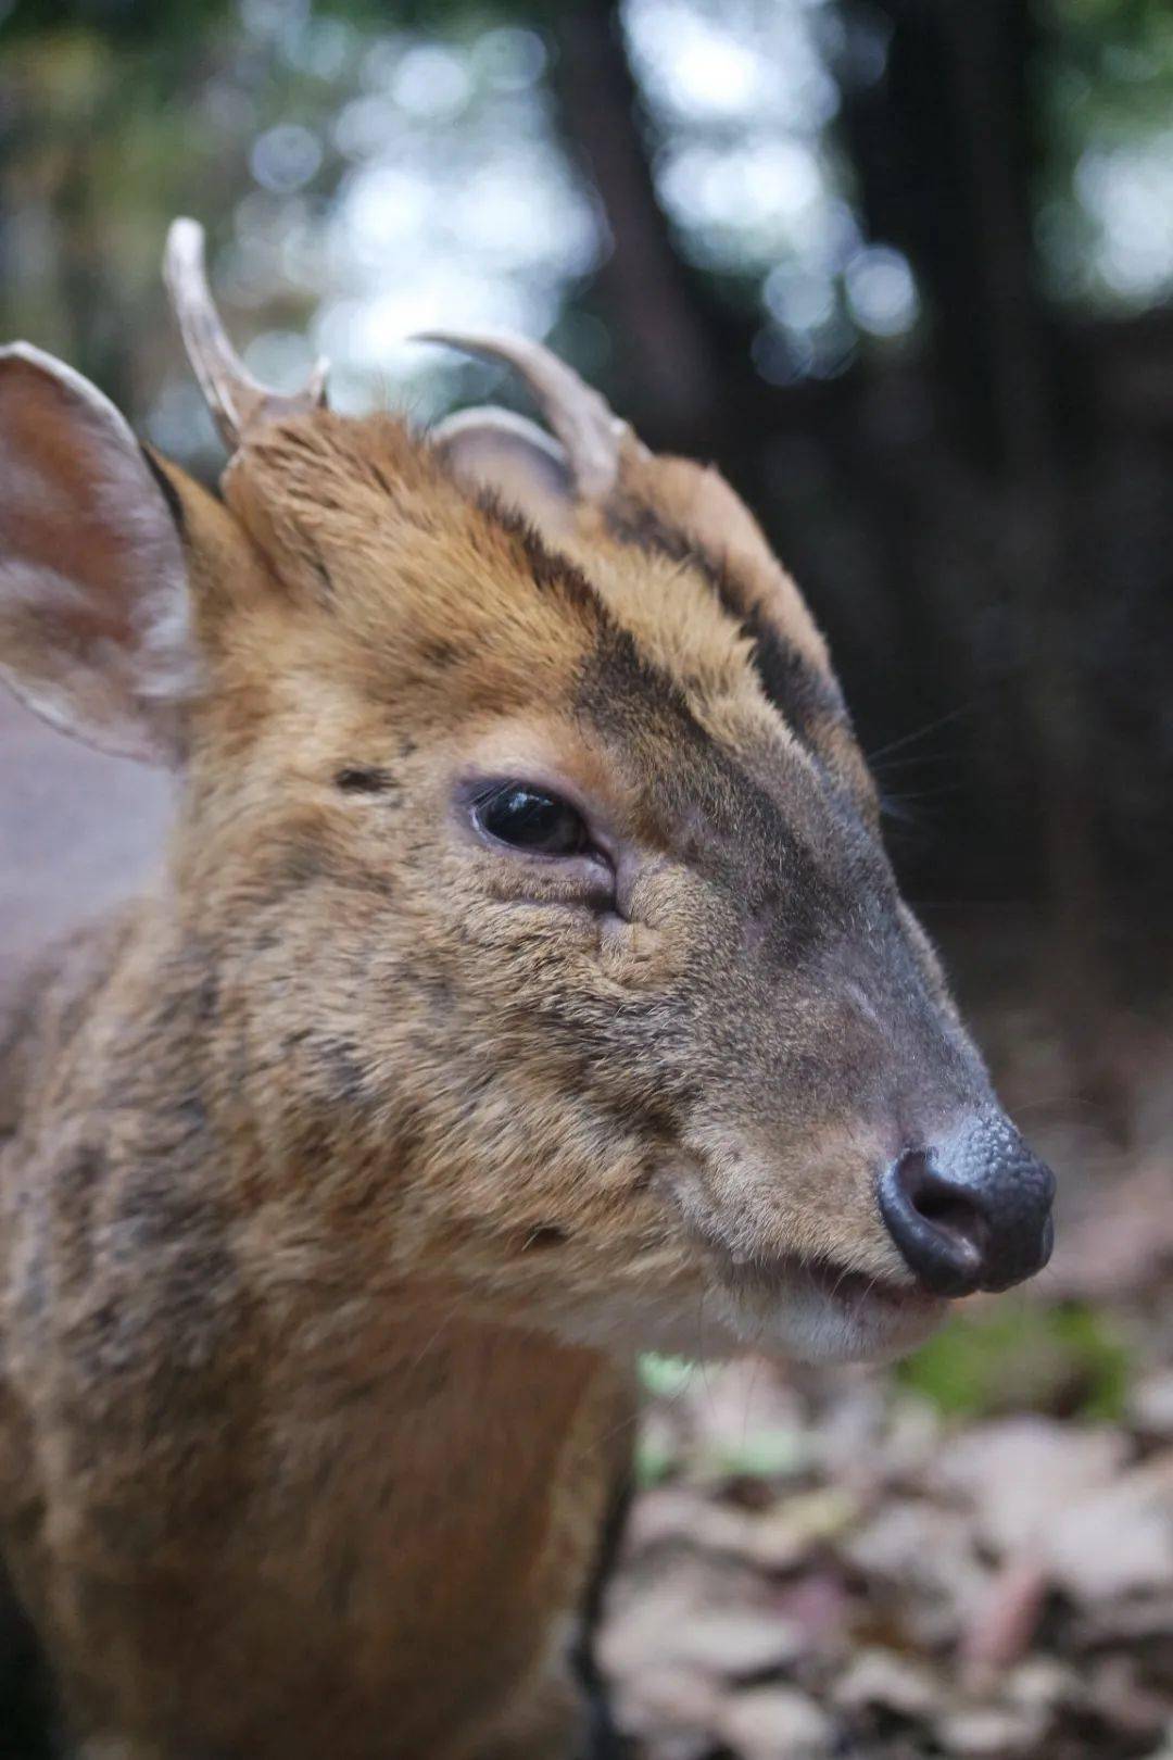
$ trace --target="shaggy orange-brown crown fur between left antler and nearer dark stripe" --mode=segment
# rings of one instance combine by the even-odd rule
[[[345,655],[371,690],[436,674],[452,692],[457,667],[466,702],[524,700],[535,674],[570,690],[610,620],[579,561],[394,415],[274,422],[239,449],[223,495],[332,664]]]

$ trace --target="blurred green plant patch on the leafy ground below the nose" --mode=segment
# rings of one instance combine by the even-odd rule
[[[958,1315],[897,1380],[953,1419],[1031,1408],[1111,1422],[1124,1412],[1129,1352],[1111,1322],[1083,1302],[1001,1302]]]

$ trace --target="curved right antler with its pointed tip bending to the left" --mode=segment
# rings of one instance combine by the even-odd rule
[[[586,500],[601,500],[619,475],[619,452],[631,429],[591,391],[573,368],[559,361],[542,343],[524,336],[489,331],[420,331],[413,341],[438,341],[464,354],[505,361],[529,385],[542,414],[566,449],[566,463],[575,491]]]

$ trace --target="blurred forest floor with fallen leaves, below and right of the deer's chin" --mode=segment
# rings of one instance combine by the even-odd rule
[[[1122,1144],[1029,1010],[992,1038],[1034,1285],[885,1371],[645,1360],[601,1660],[649,1760],[1173,1760],[1173,1040],[1113,1024]]]

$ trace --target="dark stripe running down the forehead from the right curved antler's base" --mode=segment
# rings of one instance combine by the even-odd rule
[[[753,664],[767,697],[800,739],[812,743],[828,723],[848,725],[848,711],[839,685],[811,665],[793,642],[776,630],[754,605],[740,581],[663,514],[631,495],[617,496],[607,510],[607,524],[621,544],[656,551],[674,561],[691,565],[709,584],[726,616],[733,618],[753,642]]]

